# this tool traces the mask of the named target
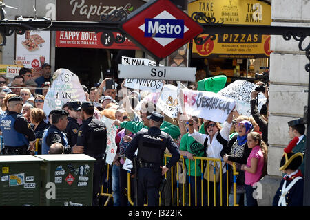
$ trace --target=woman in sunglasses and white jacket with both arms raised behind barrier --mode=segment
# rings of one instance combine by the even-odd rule
[[[220,152],[223,147],[229,141],[229,132],[231,129],[231,122],[233,119],[233,111],[229,113],[227,121],[224,122],[223,128],[220,126],[220,123],[213,122],[210,120],[205,120],[204,129],[205,134],[199,133],[198,131],[194,131],[193,120],[188,120],[189,122],[189,137],[193,137],[197,142],[203,144],[207,151],[207,157],[209,158],[220,158]],[[209,164],[211,164],[209,162]],[[222,163],[221,169],[223,170],[223,175],[226,172],[225,164]],[[220,162],[214,163],[214,166],[218,166],[220,168]],[[226,186],[225,182],[223,182],[223,186]],[[220,184],[216,182],[209,181],[209,206],[214,206],[214,184],[216,184],[216,188],[220,188]],[[225,184],[225,185],[224,185]],[[224,187],[222,187],[224,188]],[[226,187],[225,187],[226,188]],[[224,190],[223,190],[224,195]],[[220,193],[216,192],[216,205],[220,205]],[[223,200],[225,201],[225,200]],[[223,202],[224,203],[224,202]]]

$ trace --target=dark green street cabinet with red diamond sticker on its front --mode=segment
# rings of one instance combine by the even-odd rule
[[[41,166],[41,206],[92,206],[96,159],[85,154],[35,155]]]

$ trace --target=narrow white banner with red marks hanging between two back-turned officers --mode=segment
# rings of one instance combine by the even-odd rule
[[[113,124],[114,120],[107,118],[104,115],[102,116],[101,121],[105,123],[105,126],[107,127],[107,148],[105,149],[107,157],[105,158],[105,162],[112,165],[117,151],[117,146],[115,143],[117,128]]]

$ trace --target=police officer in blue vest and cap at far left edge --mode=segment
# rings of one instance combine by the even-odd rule
[[[21,115],[23,98],[12,96],[8,99],[8,113],[1,120],[1,131],[3,135],[3,155],[27,155],[28,146],[34,143],[35,134],[30,124]]]

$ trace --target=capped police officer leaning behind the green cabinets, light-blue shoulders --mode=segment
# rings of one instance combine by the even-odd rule
[[[83,149],[68,144],[68,138],[63,132],[68,125],[68,112],[53,110],[50,112],[52,125],[46,129],[42,137],[42,154],[48,154],[50,146],[54,143],[63,144],[65,153],[83,153]]]

